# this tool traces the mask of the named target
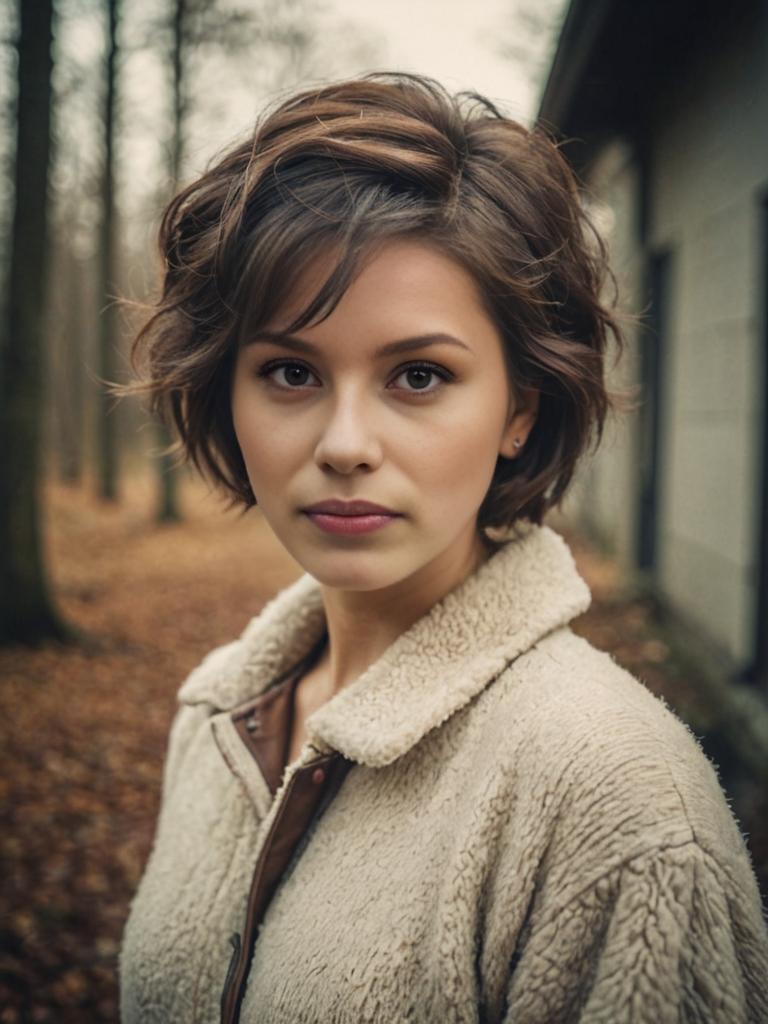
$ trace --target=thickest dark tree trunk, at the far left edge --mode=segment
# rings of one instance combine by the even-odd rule
[[[40,478],[52,0],[19,0],[15,201],[0,337],[0,643],[68,639],[43,557]]]

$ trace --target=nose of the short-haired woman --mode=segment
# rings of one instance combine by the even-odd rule
[[[321,469],[348,475],[358,467],[381,465],[383,452],[373,423],[371,399],[365,393],[338,394],[330,406],[314,450]]]

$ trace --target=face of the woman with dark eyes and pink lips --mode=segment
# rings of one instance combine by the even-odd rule
[[[245,340],[234,430],[256,501],[304,570],[328,587],[378,590],[481,550],[477,511],[497,458],[514,458],[536,409],[515,406],[473,279],[428,244],[385,244],[327,319],[285,335],[327,265]],[[396,515],[305,511],[330,499]],[[350,525],[376,528],[339,531]]]

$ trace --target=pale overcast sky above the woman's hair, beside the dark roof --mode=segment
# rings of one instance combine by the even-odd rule
[[[529,123],[562,9],[563,0],[317,0],[314,73],[328,79],[416,71],[452,90],[484,93]],[[513,47],[516,53],[509,52]],[[146,86],[146,71],[136,72]],[[242,62],[227,70],[214,61],[204,77],[195,113],[205,131],[190,125],[189,139],[198,166],[250,128],[264,99]]]

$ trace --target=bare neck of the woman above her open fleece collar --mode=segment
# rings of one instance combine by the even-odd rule
[[[494,550],[472,531],[414,574],[382,590],[322,587],[328,643],[314,672],[323,678],[328,695],[357,679]]]

